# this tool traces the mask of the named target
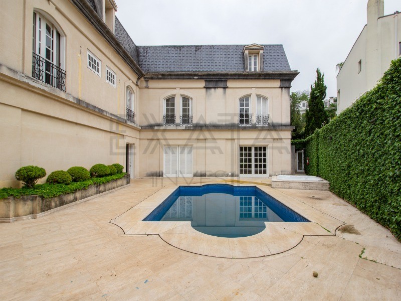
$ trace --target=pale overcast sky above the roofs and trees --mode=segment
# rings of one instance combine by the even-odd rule
[[[116,0],[117,17],[136,45],[283,44],[292,91],[310,89],[316,68],[336,96],[335,65],[366,24],[367,0]],[[384,14],[401,11],[385,0]]]

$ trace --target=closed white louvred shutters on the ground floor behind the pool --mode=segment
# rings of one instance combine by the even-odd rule
[[[193,176],[192,146],[164,146],[164,176]]]

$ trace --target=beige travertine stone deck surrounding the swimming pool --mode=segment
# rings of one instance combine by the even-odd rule
[[[38,219],[0,224],[0,299],[399,299],[401,243],[387,229],[329,191],[272,189],[270,180],[241,180],[137,179]],[[207,183],[258,185],[313,225],[290,229],[272,223],[264,237],[223,238],[229,249],[238,247],[221,257],[264,256],[242,259],[211,257],[227,250],[225,242],[202,240],[207,235],[187,223],[141,225],[142,216],[177,184]],[[264,240],[273,238],[269,234],[274,239]],[[182,250],[179,244],[191,235],[197,243]],[[260,239],[262,249],[255,247]]]

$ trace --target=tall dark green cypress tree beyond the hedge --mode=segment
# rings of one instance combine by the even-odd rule
[[[320,73],[319,68],[316,70],[316,80],[310,86],[310,98],[308,101],[309,108],[306,110],[305,135],[313,134],[316,128],[320,128],[323,123],[327,123],[328,116],[324,110],[323,100],[326,97],[327,87],[324,85],[324,74]]]

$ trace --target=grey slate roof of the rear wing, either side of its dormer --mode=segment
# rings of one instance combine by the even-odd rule
[[[143,72],[244,71],[244,46],[137,46]],[[262,45],[263,71],[291,71],[283,45]]]

